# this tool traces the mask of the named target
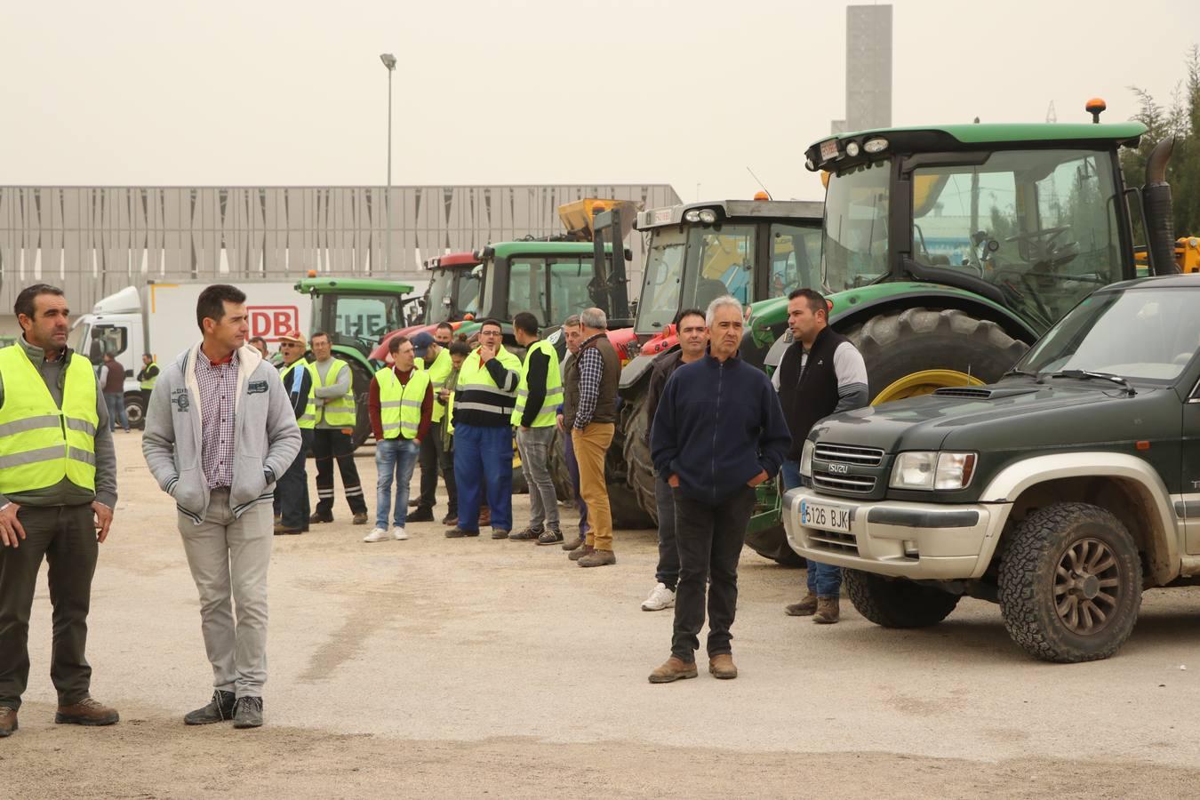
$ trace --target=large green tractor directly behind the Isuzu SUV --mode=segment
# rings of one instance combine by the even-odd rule
[[[1098,119],[1098,110],[1088,108]],[[1099,110],[1103,110],[1100,108]],[[1146,186],[1126,187],[1117,154],[1146,133],[1111,125],[960,125],[846,133],[806,151],[828,175],[821,281],[829,321],[866,361],[872,404],[997,380],[1096,289],[1170,257],[1171,140]],[[774,369],[791,344],[787,301],[758,303],[742,355]],[[796,559],[774,485],[760,491],[746,543]]]

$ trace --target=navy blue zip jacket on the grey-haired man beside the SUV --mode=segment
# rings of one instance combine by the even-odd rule
[[[658,474],[678,475],[683,494],[710,504],[763,470],[774,477],[791,445],[770,379],[738,357],[706,355],[676,369],[650,432]]]

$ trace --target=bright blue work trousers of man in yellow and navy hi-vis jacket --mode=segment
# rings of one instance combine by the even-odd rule
[[[460,528],[479,528],[479,505],[486,489],[492,530],[512,530],[512,428],[454,426],[454,479]]]

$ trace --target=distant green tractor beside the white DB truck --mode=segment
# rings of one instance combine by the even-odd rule
[[[329,333],[334,355],[350,366],[358,409],[354,446],[358,447],[371,435],[367,391],[371,377],[382,366],[372,360],[371,351],[379,337],[408,324],[406,306],[419,297],[412,294],[413,287],[408,284],[373,278],[304,278],[295,288],[312,297],[310,335]]]

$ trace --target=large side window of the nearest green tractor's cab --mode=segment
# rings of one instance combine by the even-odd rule
[[[913,259],[1001,289],[1049,326],[1122,277],[1112,161],[1086,150],[1010,150],[913,170]]]

